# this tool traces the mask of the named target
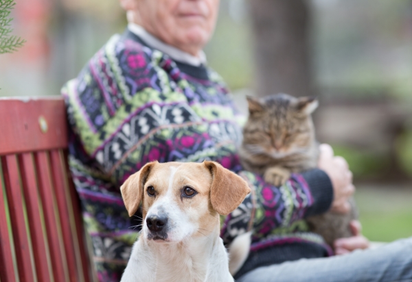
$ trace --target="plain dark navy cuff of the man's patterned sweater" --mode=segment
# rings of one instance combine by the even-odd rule
[[[305,217],[324,214],[333,201],[332,181],[326,172],[317,168],[302,172],[301,175],[308,183],[313,197],[313,204],[306,210]]]

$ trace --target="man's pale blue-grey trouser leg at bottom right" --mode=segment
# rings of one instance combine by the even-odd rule
[[[236,282],[412,282],[412,238],[348,255],[256,268]]]

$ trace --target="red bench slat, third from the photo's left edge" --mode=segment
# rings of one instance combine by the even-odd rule
[[[34,264],[36,265],[38,281],[51,281],[49,277],[50,261],[49,253],[46,248],[45,234],[41,228],[41,218],[43,214],[40,211],[40,202],[36,184],[36,172],[34,170],[34,159],[32,154],[25,153],[19,156],[19,167],[21,172],[21,181],[25,195],[27,208],[27,218],[29,221],[30,235],[32,238],[32,248],[34,255]]]

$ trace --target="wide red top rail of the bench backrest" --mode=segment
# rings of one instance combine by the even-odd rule
[[[47,123],[43,133],[39,118]],[[67,148],[65,103],[54,99],[0,99],[0,155]]]

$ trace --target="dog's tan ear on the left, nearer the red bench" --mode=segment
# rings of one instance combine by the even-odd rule
[[[145,164],[138,172],[130,175],[120,187],[124,205],[126,206],[129,216],[133,216],[139,208],[140,201],[143,198],[144,183],[146,182],[152,166],[155,164],[157,164],[157,162]]]

